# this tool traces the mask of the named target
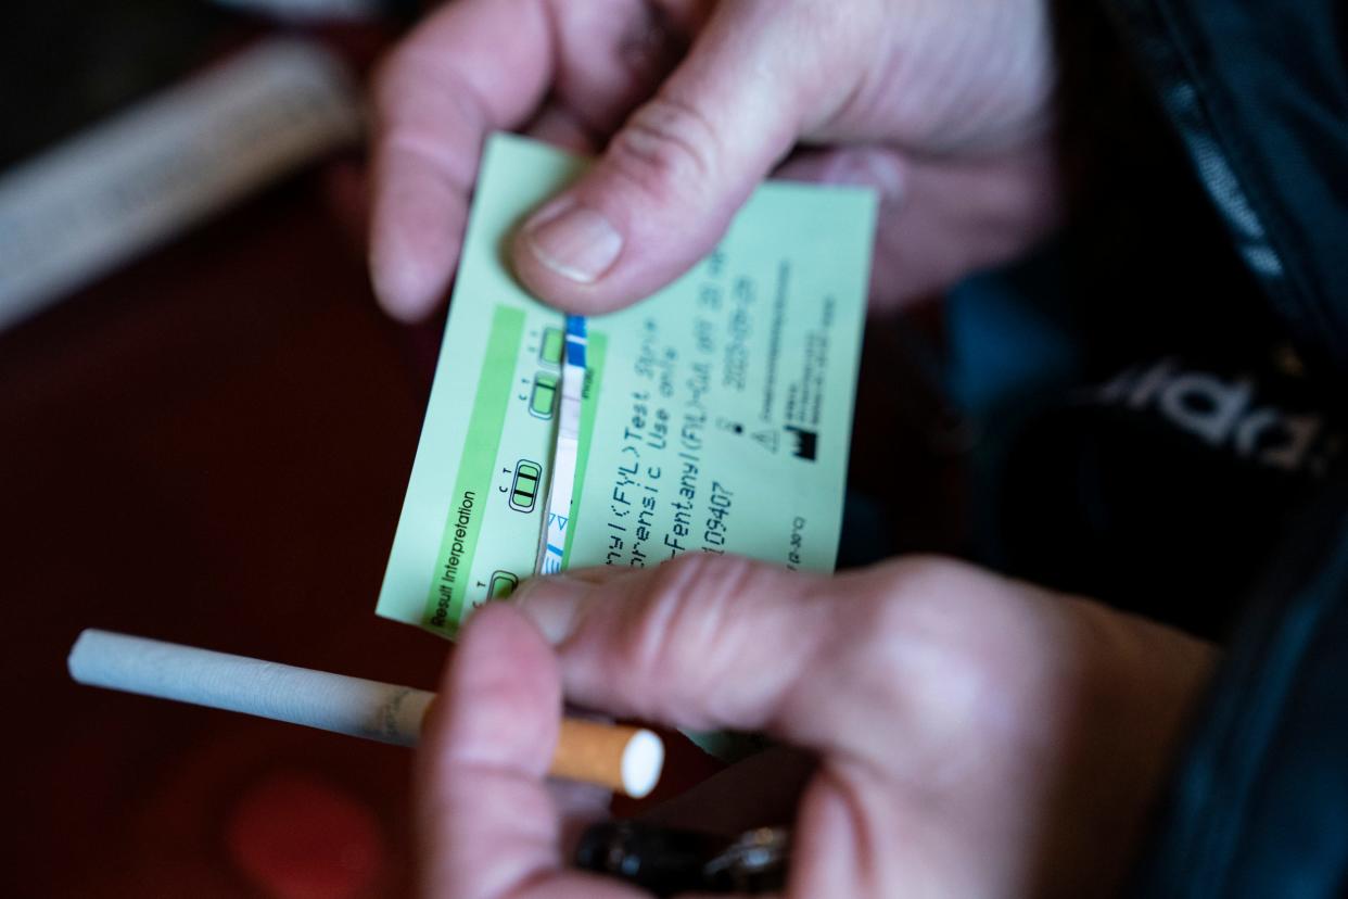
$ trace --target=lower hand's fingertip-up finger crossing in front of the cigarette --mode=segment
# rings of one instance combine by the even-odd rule
[[[474,615],[418,753],[422,895],[643,895],[562,865],[561,815],[545,780],[561,710],[557,659],[538,629],[499,605]]]

